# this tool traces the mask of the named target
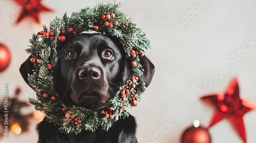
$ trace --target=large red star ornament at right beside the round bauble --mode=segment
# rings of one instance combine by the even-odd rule
[[[213,103],[217,107],[209,127],[228,117],[243,141],[246,142],[243,115],[256,109],[256,103],[240,99],[237,78],[233,79],[225,94],[212,94],[201,99]]]

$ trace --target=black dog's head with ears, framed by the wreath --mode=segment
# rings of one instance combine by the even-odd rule
[[[28,74],[34,68],[30,58],[19,69],[27,84]],[[140,79],[148,86],[155,67],[145,56],[140,59],[144,68]],[[118,39],[102,34],[83,33],[67,38],[59,47],[57,65],[56,92],[63,102],[87,108],[108,102],[118,90],[118,84],[132,73],[130,60]]]

